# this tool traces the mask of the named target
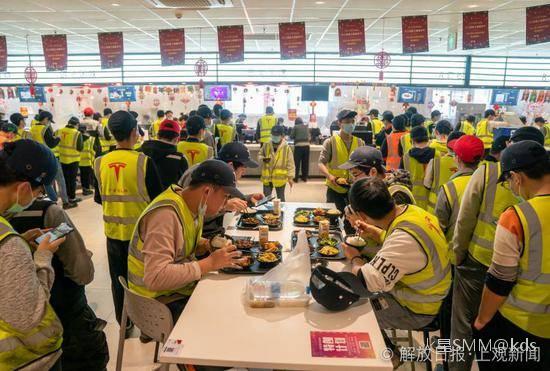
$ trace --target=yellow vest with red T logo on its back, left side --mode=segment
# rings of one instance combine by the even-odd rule
[[[148,159],[145,154],[130,150],[96,158],[94,172],[108,238],[129,241],[141,212],[151,201],[145,184]]]

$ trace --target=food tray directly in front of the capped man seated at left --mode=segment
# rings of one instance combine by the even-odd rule
[[[278,242],[268,242],[264,246],[253,242],[254,247],[249,250],[241,249],[243,258],[242,269],[224,268],[224,273],[229,274],[264,274],[283,260],[282,246]]]

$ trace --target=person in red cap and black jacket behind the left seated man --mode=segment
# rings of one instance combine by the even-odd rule
[[[147,140],[140,148],[153,160],[160,175],[163,189],[176,184],[188,169],[185,156],[178,152],[176,145],[180,136],[180,127],[175,120],[164,120],[160,126],[157,140]]]

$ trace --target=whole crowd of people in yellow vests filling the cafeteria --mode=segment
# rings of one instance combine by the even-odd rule
[[[119,324],[119,277],[177,320],[204,274],[242,263],[235,246],[211,245],[224,232],[224,214],[273,192],[284,201],[287,185],[308,180],[308,126],[298,118],[288,132],[271,107],[257,123],[257,159],[221,105],[178,120],[158,111],[148,140],[135,111],[86,108],[82,116],[54,130],[52,114],[40,111],[27,130],[15,113],[0,128],[0,363],[7,369],[103,370],[109,360],[105,321],[84,291],[92,254],[65,211],[82,201],[78,176],[82,195],[93,194],[102,208]],[[528,338],[542,357],[530,369],[548,369],[550,125],[537,118],[511,137],[494,137],[496,113],[483,116],[453,127],[437,111],[426,120],[412,107],[396,116],[373,109],[357,125],[357,112],[341,110],[318,163],[326,201],[344,215],[347,234],[369,242],[363,250],[345,245],[345,253],[376,293],[371,304],[382,329],[437,320],[442,339],[464,344]],[[356,135],[359,126],[369,143]],[[238,190],[247,168],[260,168],[263,193]],[[74,231],[37,242],[63,222]],[[128,322],[127,336],[132,329]],[[151,339],[142,333],[140,340]],[[466,353],[449,367],[470,370],[474,358]],[[480,369],[495,365],[503,363]]]

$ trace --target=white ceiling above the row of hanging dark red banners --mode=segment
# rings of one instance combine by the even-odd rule
[[[403,15],[429,15],[430,53],[447,54],[449,30],[461,12],[489,10],[491,48],[482,55],[550,56],[550,43],[525,45],[525,7],[549,0],[232,0],[233,8],[184,10],[154,8],[146,0],[1,0],[0,34],[9,53],[42,53],[40,35],[68,35],[69,53],[97,53],[97,32],[123,31],[127,52],[157,52],[158,29],[186,29],[188,51],[217,50],[216,26],[245,25],[246,34],[276,33],[279,22],[305,21],[308,51],[338,51],[337,19],[365,18],[367,51],[401,52]],[[549,20],[550,22],[550,20]],[[245,51],[279,51],[277,40],[247,40]]]

